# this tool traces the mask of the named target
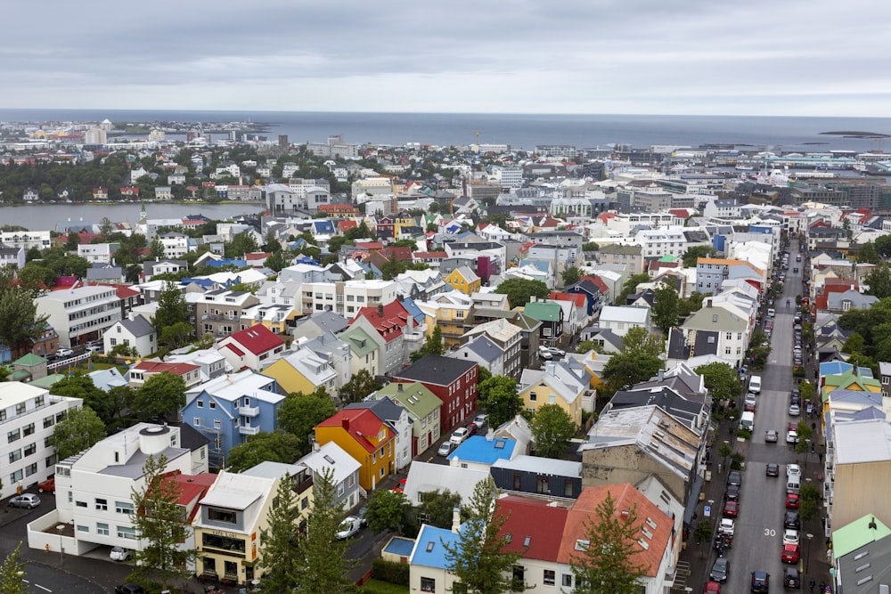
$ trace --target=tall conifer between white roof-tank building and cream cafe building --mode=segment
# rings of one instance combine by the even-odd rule
[[[150,454],[143,464],[143,486],[134,488],[130,496],[135,509],[133,527],[142,543],[142,549],[134,552],[131,575],[140,582],[157,576],[164,590],[174,580],[192,574],[187,565],[198,552],[184,546],[192,529],[179,505],[182,487],[168,476],[167,466],[167,456]]]

